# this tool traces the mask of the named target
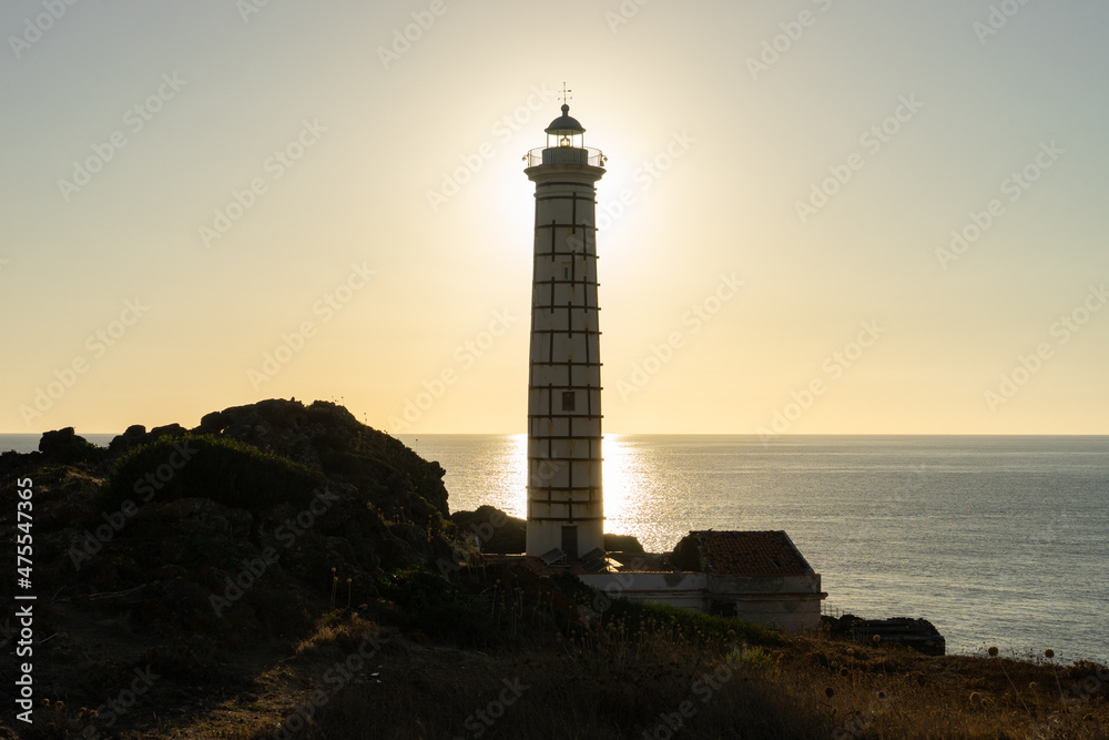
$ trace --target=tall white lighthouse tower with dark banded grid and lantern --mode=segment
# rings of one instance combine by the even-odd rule
[[[596,183],[604,156],[570,107],[525,158],[536,183],[528,374],[527,554],[570,564],[603,553]]]

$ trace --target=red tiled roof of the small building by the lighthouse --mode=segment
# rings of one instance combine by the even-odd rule
[[[691,531],[701,562],[718,576],[808,576],[813,568],[784,531]]]

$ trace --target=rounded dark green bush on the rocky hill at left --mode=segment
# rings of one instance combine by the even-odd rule
[[[102,505],[113,510],[125,499],[202,497],[236,508],[282,501],[304,507],[319,485],[322,477],[305,466],[234,439],[161,437],[120,457],[104,484]]]

